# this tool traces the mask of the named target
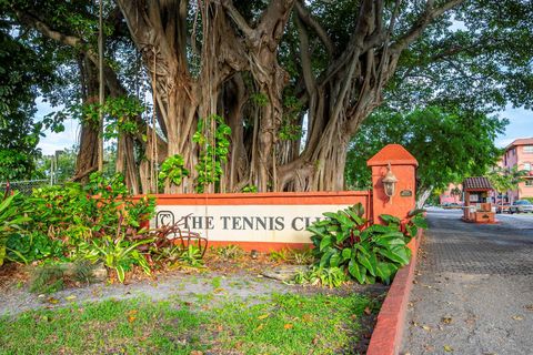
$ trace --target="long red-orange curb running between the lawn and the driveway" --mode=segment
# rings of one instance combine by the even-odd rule
[[[423,231],[419,230],[416,237],[408,246],[412,251],[409,265],[398,271],[385,301],[378,314],[378,322],[370,338],[366,355],[396,355],[402,345],[402,335],[405,325],[409,295],[413,286],[416,254]]]

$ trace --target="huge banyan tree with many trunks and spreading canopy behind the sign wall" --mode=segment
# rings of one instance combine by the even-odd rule
[[[98,158],[98,3],[0,3],[28,33],[18,40],[70,78],[48,95],[81,108],[69,112],[82,121],[83,179]],[[168,192],[341,190],[350,141],[383,103],[403,118],[439,106],[466,120],[532,101],[525,0],[110,0],[103,17],[105,95],[153,95],[144,112],[109,113],[117,171],[135,192],[158,189],[168,159],[190,172],[163,179]]]

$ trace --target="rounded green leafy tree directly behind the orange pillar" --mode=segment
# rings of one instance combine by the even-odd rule
[[[494,139],[506,120],[473,111],[430,106],[399,113],[383,108],[361,126],[348,152],[346,183],[371,185],[366,161],[389,143],[402,144],[419,162],[418,191],[442,189],[465,176],[483,175],[501,156]]]

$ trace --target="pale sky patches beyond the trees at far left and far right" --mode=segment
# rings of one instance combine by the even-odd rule
[[[37,108],[36,118],[38,120],[42,119],[47,113],[54,111],[47,102],[42,102],[40,99],[37,101]],[[513,109],[510,105],[500,115],[509,119],[510,124],[505,133],[496,138],[494,142],[496,146],[504,148],[517,138],[533,138],[533,111],[523,108]],[[39,148],[44,155],[53,154],[58,150],[70,149],[78,143],[79,132],[79,123],[74,120],[68,120],[64,122],[63,132],[46,132],[46,136],[41,138],[39,142]]]

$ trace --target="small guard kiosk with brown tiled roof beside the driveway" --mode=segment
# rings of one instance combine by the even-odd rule
[[[496,211],[489,193],[494,190],[486,178],[466,178],[463,181],[463,220],[473,223],[494,223]]]

